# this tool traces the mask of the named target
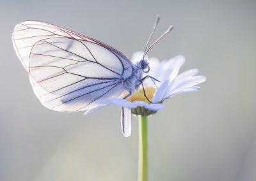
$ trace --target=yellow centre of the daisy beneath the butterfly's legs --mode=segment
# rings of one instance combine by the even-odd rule
[[[156,89],[154,87],[145,87],[145,93],[147,98],[152,102],[153,95]],[[143,89],[139,89],[138,91],[134,92],[131,97],[127,98],[127,101],[144,101],[146,103],[150,103],[147,98],[144,96]]]

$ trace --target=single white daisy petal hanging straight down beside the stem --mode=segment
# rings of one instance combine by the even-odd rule
[[[125,137],[129,137],[132,132],[131,110],[122,108],[121,112],[121,129]]]

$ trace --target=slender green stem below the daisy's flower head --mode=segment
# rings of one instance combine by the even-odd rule
[[[148,177],[148,118],[139,115],[139,167],[138,181]]]

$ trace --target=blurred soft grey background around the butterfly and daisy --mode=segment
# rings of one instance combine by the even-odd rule
[[[175,28],[149,57],[185,55],[181,71],[207,76],[199,92],[165,101],[149,120],[149,180],[256,180],[255,1],[3,1],[0,6],[0,180],[136,180],[138,120],[120,131],[120,108],[92,115],[47,110],[33,94],[11,34],[43,20],[131,57]]]

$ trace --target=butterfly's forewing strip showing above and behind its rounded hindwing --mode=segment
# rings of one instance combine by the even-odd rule
[[[107,45],[106,43],[102,43],[101,41],[95,40],[88,36],[83,36],[82,34],[64,29],[63,27],[59,27],[57,25],[49,24],[47,22],[25,21],[17,24],[13,30],[12,41],[17,56],[22,62],[24,68],[28,71],[29,54],[33,45],[35,45],[35,43],[40,40],[61,37],[74,38],[76,40],[84,40],[97,43],[100,46],[111,50],[111,52],[122,59],[125,68],[132,66],[131,61],[129,61],[129,59],[127,59],[124,54]]]

